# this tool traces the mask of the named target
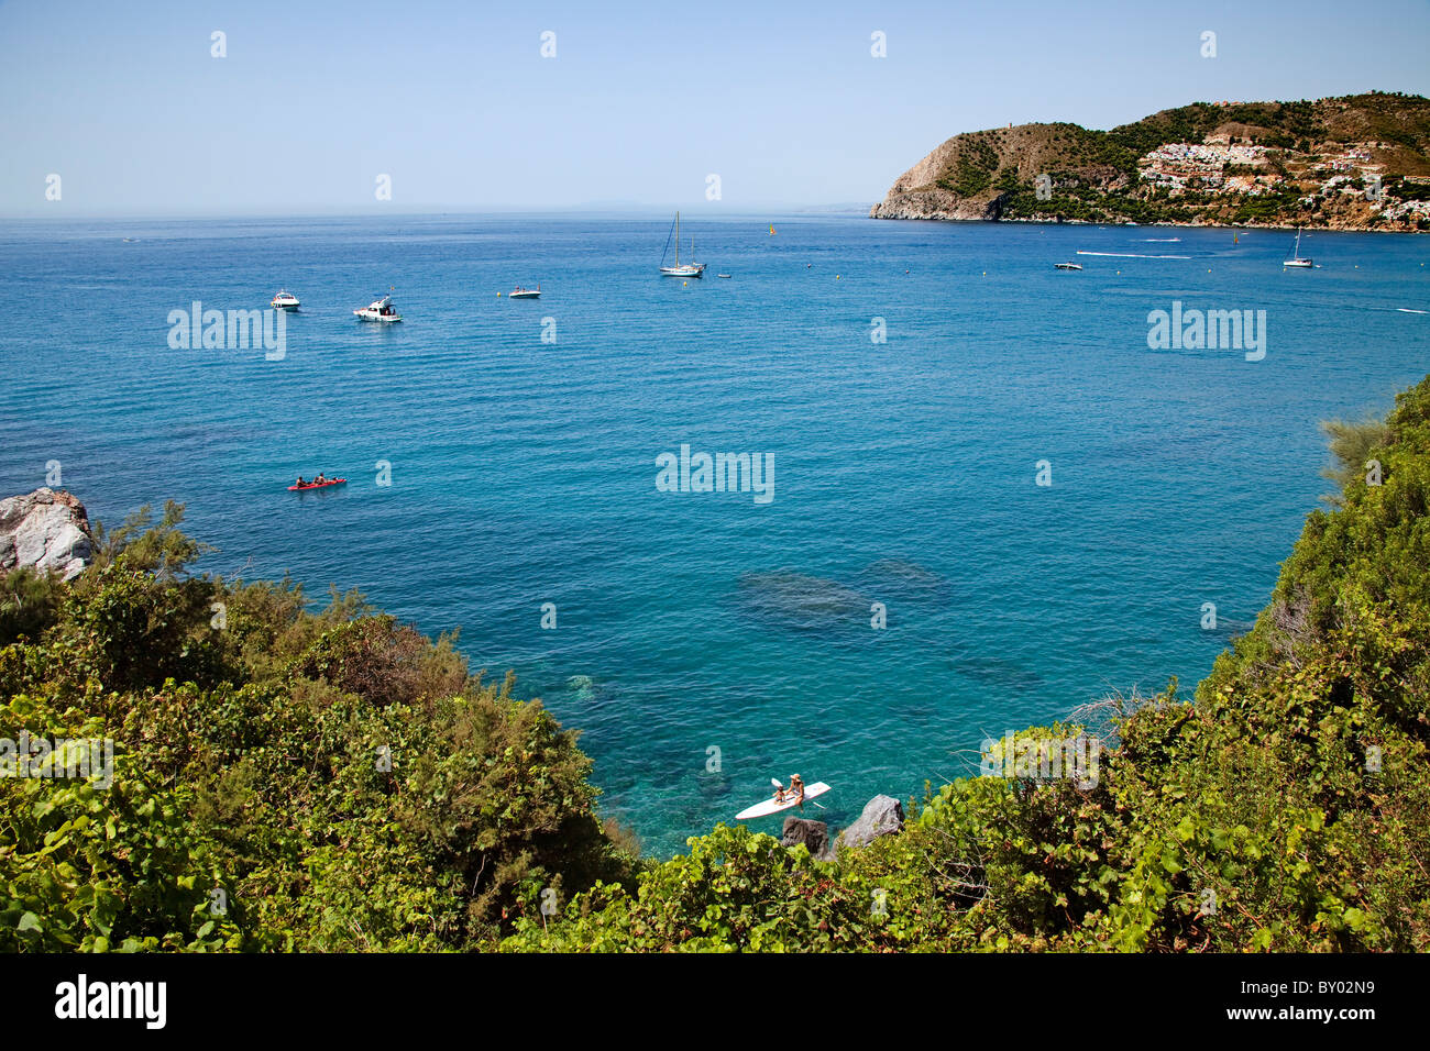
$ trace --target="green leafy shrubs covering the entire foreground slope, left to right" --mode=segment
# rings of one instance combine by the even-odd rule
[[[0,736],[116,741],[107,789],[0,779],[0,947],[1424,951],[1430,378],[1331,433],[1338,506],[1195,702],[1025,731],[1100,735],[1095,784],[925,789],[832,862],[724,825],[639,861],[509,679],[355,595],[189,575],[170,505],[0,581]]]

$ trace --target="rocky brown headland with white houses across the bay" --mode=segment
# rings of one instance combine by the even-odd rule
[[[1208,140],[1257,147],[1254,166],[1228,162],[1187,180],[1155,177],[1160,166],[1148,160],[1155,150]],[[1354,163],[1347,152],[1357,153]],[[1376,177],[1380,196],[1370,200]],[[1410,230],[1430,229],[1430,210],[1407,207],[1427,196],[1430,100],[1371,92],[1193,103],[1110,132],[1068,123],[968,132],[899,176],[869,214]]]

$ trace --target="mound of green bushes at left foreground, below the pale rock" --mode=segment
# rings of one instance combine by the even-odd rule
[[[189,576],[179,520],[7,581],[49,598],[0,649],[0,736],[114,755],[109,788],[0,778],[0,948],[470,949],[629,879],[575,734],[511,679],[356,595]]]

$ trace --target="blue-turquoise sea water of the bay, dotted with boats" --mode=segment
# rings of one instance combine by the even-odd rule
[[[691,222],[685,285],[668,222],[0,224],[0,490],[59,460],[104,522],[183,500],[212,571],[460,626],[666,854],[771,775],[828,781],[845,824],[984,736],[1190,692],[1327,489],[1317,420],[1430,369],[1424,237],[1307,235],[1320,269],[1283,272],[1270,232]],[[1052,269],[1080,249],[1190,259]],[[389,286],[406,320],[353,319]],[[169,347],[170,310],[279,287],[283,360]],[[1266,310],[1266,359],[1148,349],[1173,300]],[[771,455],[774,500],[658,492],[682,443]],[[286,492],[317,470],[349,483]]]

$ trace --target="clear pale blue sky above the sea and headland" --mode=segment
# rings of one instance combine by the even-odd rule
[[[1427,54],[1427,0],[0,0],[0,214],[871,203],[958,132],[1430,94]]]

